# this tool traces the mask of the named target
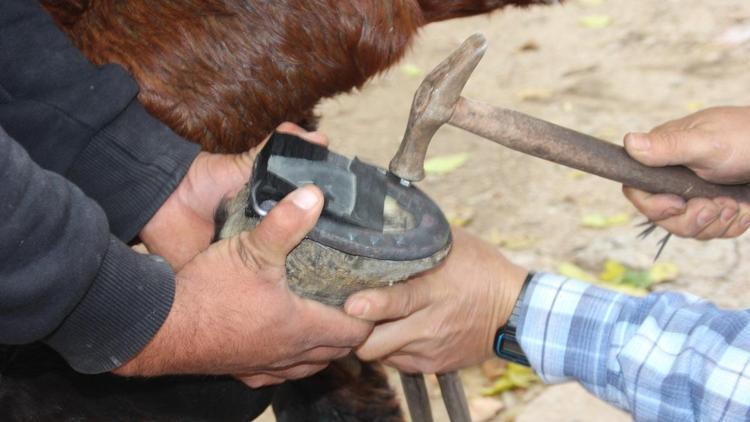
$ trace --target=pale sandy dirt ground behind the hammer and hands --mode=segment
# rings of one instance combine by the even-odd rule
[[[612,142],[699,108],[749,102],[750,2],[570,0],[426,28],[402,62],[408,66],[320,107],[331,148],[387,166],[424,74],[477,31],[487,35],[490,48],[465,96]],[[597,271],[607,258],[650,265],[661,236],[636,239],[640,220],[619,185],[449,127],[437,134],[429,155],[459,152],[470,154],[466,165],[428,177],[420,187],[449,215],[468,214],[466,228],[476,234],[532,239],[529,247],[506,251],[516,262],[536,270],[555,270],[569,261]],[[622,212],[632,213],[632,222],[605,230],[580,225],[591,213]],[[741,307],[750,303],[747,253],[748,237],[709,243],[673,239],[661,260],[675,263],[680,277],[659,288]],[[628,420],[575,384],[486,399],[480,390],[488,380],[480,370],[462,376],[475,420]],[[436,385],[430,384],[436,420],[445,421]]]

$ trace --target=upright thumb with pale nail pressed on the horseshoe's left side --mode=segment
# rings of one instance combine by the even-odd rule
[[[284,266],[286,256],[315,227],[323,209],[323,194],[313,185],[287,195],[254,230],[240,234],[241,244],[261,265]]]

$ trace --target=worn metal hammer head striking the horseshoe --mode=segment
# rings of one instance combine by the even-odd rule
[[[424,179],[424,159],[432,136],[450,120],[466,82],[487,50],[487,39],[474,34],[422,81],[414,95],[409,123],[391,173],[403,180]]]

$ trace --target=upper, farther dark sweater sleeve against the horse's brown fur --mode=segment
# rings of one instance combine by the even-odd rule
[[[121,67],[86,60],[36,0],[0,1],[0,125],[40,166],[96,200],[124,241],[198,153],[150,116],[137,94]]]

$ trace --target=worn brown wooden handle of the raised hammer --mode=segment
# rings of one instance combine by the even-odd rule
[[[517,111],[462,97],[449,123],[516,151],[648,192],[750,202],[750,185],[710,183],[683,166],[648,167],[621,146]]]

